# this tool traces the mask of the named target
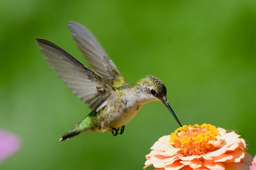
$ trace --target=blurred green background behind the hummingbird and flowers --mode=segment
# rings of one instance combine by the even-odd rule
[[[0,128],[22,138],[1,169],[142,169],[154,142],[178,128],[152,102],[122,135],[59,142],[90,109],[47,66],[34,38],[86,64],[68,21],[93,32],[128,83],[148,74],[162,80],[181,124],[235,130],[255,155],[256,1],[0,1],[0,16]]]

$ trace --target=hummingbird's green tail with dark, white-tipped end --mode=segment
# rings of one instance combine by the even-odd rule
[[[84,117],[83,120],[81,120],[76,126],[65,133],[61,138],[60,141],[72,138],[79,133],[85,133],[85,132],[95,132],[100,131],[100,123],[98,121],[98,114],[96,111],[92,111],[89,115]]]

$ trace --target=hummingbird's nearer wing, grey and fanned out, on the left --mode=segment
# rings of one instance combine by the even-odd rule
[[[60,79],[92,110],[97,110],[111,90],[115,91],[113,86],[101,78],[99,74],[86,67],[59,46],[41,38],[36,38],[36,43],[46,62]]]

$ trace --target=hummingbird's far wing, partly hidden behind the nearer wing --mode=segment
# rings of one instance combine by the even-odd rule
[[[69,22],[68,28],[80,51],[101,77],[114,87],[126,83],[115,63],[87,28],[76,22]]]

